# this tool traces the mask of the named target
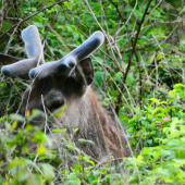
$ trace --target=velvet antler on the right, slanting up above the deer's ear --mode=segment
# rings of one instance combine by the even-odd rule
[[[51,63],[46,63],[30,70],[29,77],[37,77],[37,79],[41,79],[48,75],[69,75],[78,61],[98,49],[102,45],[103,40],[103,34],[101,32],[96,32],[85,42],[83,42],[78,48],[74,49],[63,59]]]

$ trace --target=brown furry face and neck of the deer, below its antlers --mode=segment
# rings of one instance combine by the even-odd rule
[[[114,159],[130,156],[124,131],[121,131],[120,126],[107,113],[92,88],[86,85],[87,78],[84,74],[87,72],[89,78],[91,66],[89,69],[86,65],[84,65],[84,69],[81,67],[83,66],[78,66],[76,70],[77,79],[74,78],[75,72],[73,72],[67,77],[48,76],[35,81],[30,89],[24,92],[23,114],[25,115],[27,110],[32,111],[33,109],[44,111],[44,106],[50,114],[54,111],[53,103],[63,101],[63,106],[66,106],[67,109],[62,112],[62,118],[50,121],[51,130],[66,128],[67,134],[74,135],[73,128],[78,128],[73,136],[73,141],[76,147],[95,160],[100,160],[108,155],[111,155]],[[41,126],[44,123],[45,119],[38,116],[30,124]],[[61,135],[54,135],[59,146],[61,137]],[[92,140],[94,144],[81,143],[78,141],[79,138]],[[58,146],[53,148],[55,147]]]

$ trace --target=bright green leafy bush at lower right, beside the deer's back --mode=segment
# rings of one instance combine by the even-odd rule
[[[140,143],[144,146],[136,158],[128,159],[126,165],[131,171],[137,165],[141,184],[185,183],[184,90],[184,85],[176,84],[165,101],[152,99],[152,104],[157,106],[149,103],[145,114],[137,113],[131,121],[140,121],[143,126],[138,126],[137,134],[133,136],[139,139],[136,145]]]

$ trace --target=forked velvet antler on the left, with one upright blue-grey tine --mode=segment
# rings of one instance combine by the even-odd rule
[[[25,44],[28,59],[21,60],[14,64],[3,66],[1,69],[1,72],[5,76],[17,76],[28,73],[33,67],[36,67],[38,64],[45,63],[38,28],[34,25],[28,26],[22,32],[22,38]]]

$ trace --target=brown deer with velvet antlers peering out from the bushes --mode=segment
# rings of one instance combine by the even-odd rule
[[[21,35],[28,59],[0,54],[0,62],[4,76],[32,82],[30,88],[23,95],[23,114],[35,109],[51,114],[66,107],[61,118],[50,121],[52,128],[66,128],[67,133],[77,128],[73,137],[75,145],[92,159],[100,160],[108,155],[115,160],[128,157],[124,132],[102,107],[91,87],[94,66],[88,55],[103,44],[104,35],[95,32],[79,47],[52,62],[45,61],[44,47],[35,25],[23,29]],[[30,124],[40,126],[45,121],[45,118],[38,116]],[[61,135],[55,138],[61,141]],[[79,138],[92,143],[84,144]]]

